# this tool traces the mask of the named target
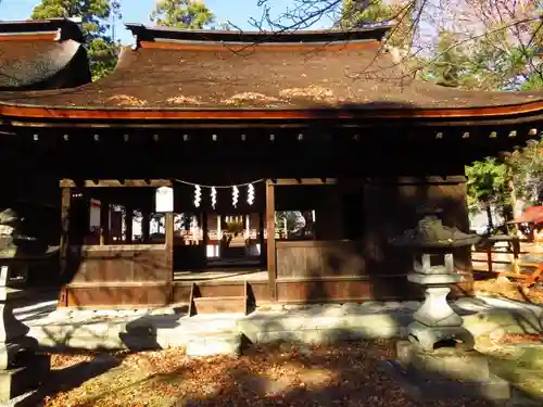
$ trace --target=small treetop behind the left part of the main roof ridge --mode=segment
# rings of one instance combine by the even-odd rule
[[[210,9],[195,0],[160,0],[149,18],[164,27],[202,29],[215,20]]]

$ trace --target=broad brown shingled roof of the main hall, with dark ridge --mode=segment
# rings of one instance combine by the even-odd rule
[[[472,116],[500,107],[543,115],[543,92],[467,91],[413,79],[383,51],[386,27],[277,36],[127,26],[137,47],[123,49],[109,77],[71,90],[3,92],[0,101],[125,112],[409,109]],[[451,113],[458,110],[470,112]]]

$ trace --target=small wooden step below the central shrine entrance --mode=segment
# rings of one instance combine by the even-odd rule
[[[243,284],[243,295],[201,296],[199,287],[193,283],[190,290],[189,316],[205,314],[248,313],[248,285]]]

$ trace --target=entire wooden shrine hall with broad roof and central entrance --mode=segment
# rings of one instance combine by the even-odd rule
[[[127,27],[110,76],[0,92],[8,167],[61,190],[61,306],[416,298],[390,238],[426,205],[468,231],[464,166],[543,129],[542,92],[414,79],[388,27]]]

